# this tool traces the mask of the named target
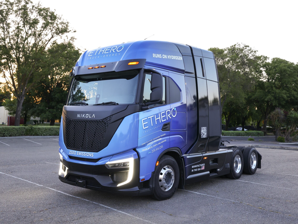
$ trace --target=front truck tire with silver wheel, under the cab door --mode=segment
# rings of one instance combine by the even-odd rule
[[[154,179],[153,198],[162,201],[171,198],[179,184],[179,166],[176,160],[164,155],[159,160]]]

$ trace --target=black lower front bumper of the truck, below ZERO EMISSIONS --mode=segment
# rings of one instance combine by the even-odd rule
[[[106,165],[86,165],[69,162],[63,159],[60,162],[59,179],[71,185],[77,186],[76,179],[86,182],[85,188],[99,191],[109,191],[128,195],[149,195],[151,187],[143,187],[139,182],[139,159],[134,159],[133,177],[130,182],[117,186],[119,182],[113,181],[115,173],[127,172],[129,168],[107,168]],[[66,167],[63,167],[63,165]]]

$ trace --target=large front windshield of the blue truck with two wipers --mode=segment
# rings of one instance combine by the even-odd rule
[[[137,70],[75,76],[67,105],[94,105],[105,102],[133,104],[136,100]]]

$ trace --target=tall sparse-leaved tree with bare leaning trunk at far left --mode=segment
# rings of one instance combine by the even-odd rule
[[[17,100],[15,126],[26,94],[44,78],[47,47],[69,32],[69,23],[40,3],[0,2],[0,72]]]

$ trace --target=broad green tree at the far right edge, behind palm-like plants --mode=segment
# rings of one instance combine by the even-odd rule
[[[252,96],[257,110],[260,110],[266,131],[268,115],[276,108],[291,110],[298,99],[298,66],[284,59],[273,58],[264,64]]]

